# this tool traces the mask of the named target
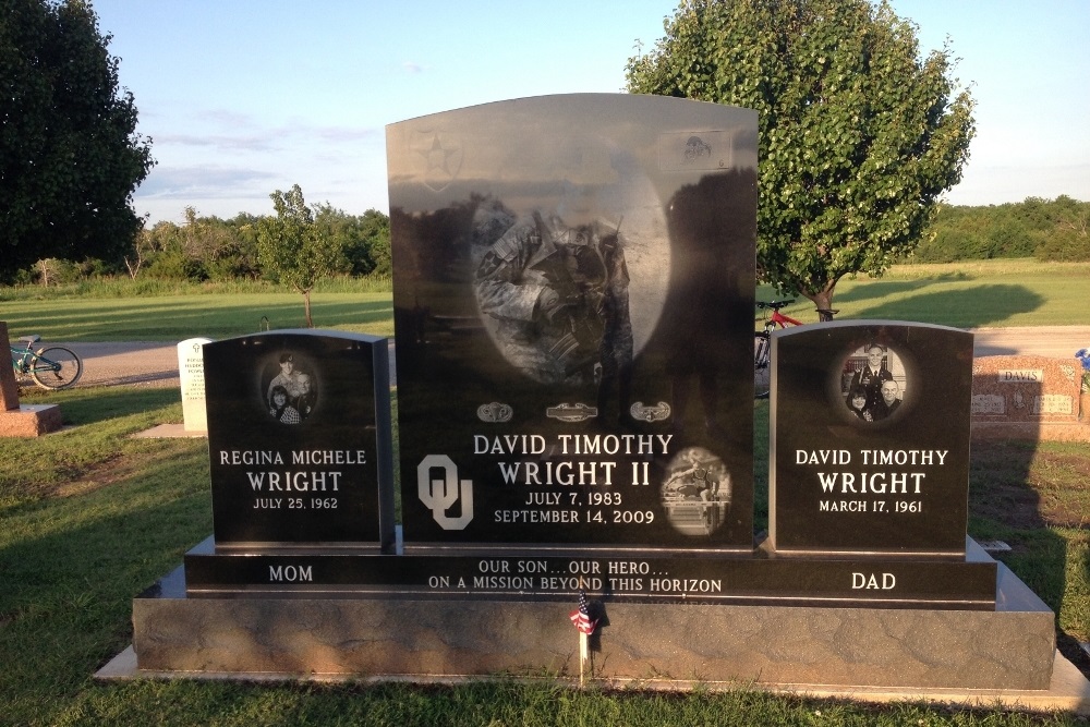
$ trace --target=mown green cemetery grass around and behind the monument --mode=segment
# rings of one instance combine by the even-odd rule
[[[876,282],[846,281],[843,302],[836,303],[840,317],[932,320],[936,301],[956,300],[953,308],[960,311],[977,296],[977,286],[984,298],[1014,294],[1006,287],[1017,289],[1019,296],[1027,295],[1025,290],[1037,291],[1038,298],[1002,308],[1012,311],[1002,319],[982,322],[978,316],[971,325],[1037,325],[1019,318],[1030,313],[1025,310],[1030,303],[1039,310],[1066,311],[1070,325],[1090,323],[1086,306],[1075,301],[1079,290],[1082,298],[1090,292],[1090,268],[1038,271],[1041,282],[1026,284],[1019,280],[1038,275],[1032,266],[1019,269],[1004,262],[986,275],[966,270],[968,280],[947,267],[895,269]],[[1050,278],[1053,284],[1045,284]],[[879,288],[886,284],[891,287]],[[258,319],[268,311],[277,316],[282,311],[286,320],[299,316],[284,327],[302,320],[300,298],[271,290],[158,292],[164,294],[145,291],[130,301],[101,291],[34,296],[31,291],[0,290],[0,319],[9,320],[13,335],[26,326],[52,340],[179,340],[194,334],[219,338],[256,330],[258,311]],[[325,291],[315,300],[319,326],[387,334],[392,328],[389,293]],[[124,306],[111,307],[120,303]],[[270,307],[274,304],[283,307]],[[992,307],[1001,304],[992,301]],[[868,313],[898,305],[906,315]],[[336,318],[335,311],[343,317]],[[328,320],[339,323],[331,326]],[[1051,318],[1045,323],[1064,325]],[[201,328],[194,330],[193,325]],[[156,424],[181,421],[174,389],[22,393],[27,403],[59,403],[68,428],[35,440],[0,439],[0,725],[1086,724],[1069,714],[915,703],[875,706],[747,689],[663,694],[592,686],[578,691],[550,680],[456,687],[99,683],[92,679],[94,671],[131,640],[133,596],[211,532],[207,445],[131,438]],[[767,517],[767,471],[762,464],[767,455],[766,402],[755,403],[755,419],[760,521]],[[1013,546],[1002,559],[1056,611],[1061,647],[1086,674],[1090,658],[1080,656],[1077,642],[1090,641],[1088,513],[1090,448],[1085,445],[973,446],[970,534]]]

